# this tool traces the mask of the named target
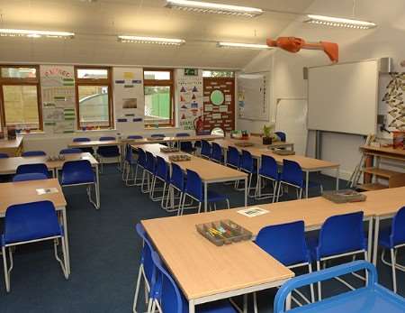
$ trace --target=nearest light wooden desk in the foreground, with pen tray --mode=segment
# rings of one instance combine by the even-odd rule
[[[228,210],[226,210],[228,211]],[[195,305],[280,286],[293,272],[252,242],[217,247],[199,235],[199,216],[142,221],[184,296]]]

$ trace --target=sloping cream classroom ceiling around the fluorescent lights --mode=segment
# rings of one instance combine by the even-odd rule
[[[303,13],[313,0],[211,0]],[[133,64],[241,69],[258,51],[216,47],[215,41],[265,43],[296,19],[196,14],[164,0],[0,0],[0,27],[75,32],[73,40],[0,37],[0,61]],[[177,48],[118,42],[118,34],[184,39]]]

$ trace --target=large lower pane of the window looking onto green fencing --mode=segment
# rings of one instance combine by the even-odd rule
[[[170,123],[170,87],[145,87],[145,122]]]

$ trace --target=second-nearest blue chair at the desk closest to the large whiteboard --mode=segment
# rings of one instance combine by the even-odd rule
[[[275,202],[275,195],[278,190],[278,184],[280,183],[280,172],[278,171],[278,165],[275,158],[269,155],[261,156],[261,165],[257,178],[257,199],[273,198]],[[273,184],[273,193],[262,193],[262,180],[270,180]]]

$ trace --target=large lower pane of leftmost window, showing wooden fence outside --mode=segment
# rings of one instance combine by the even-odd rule
[[[36,86],[3,86],[5,124],[38,129],[38,95]]]

